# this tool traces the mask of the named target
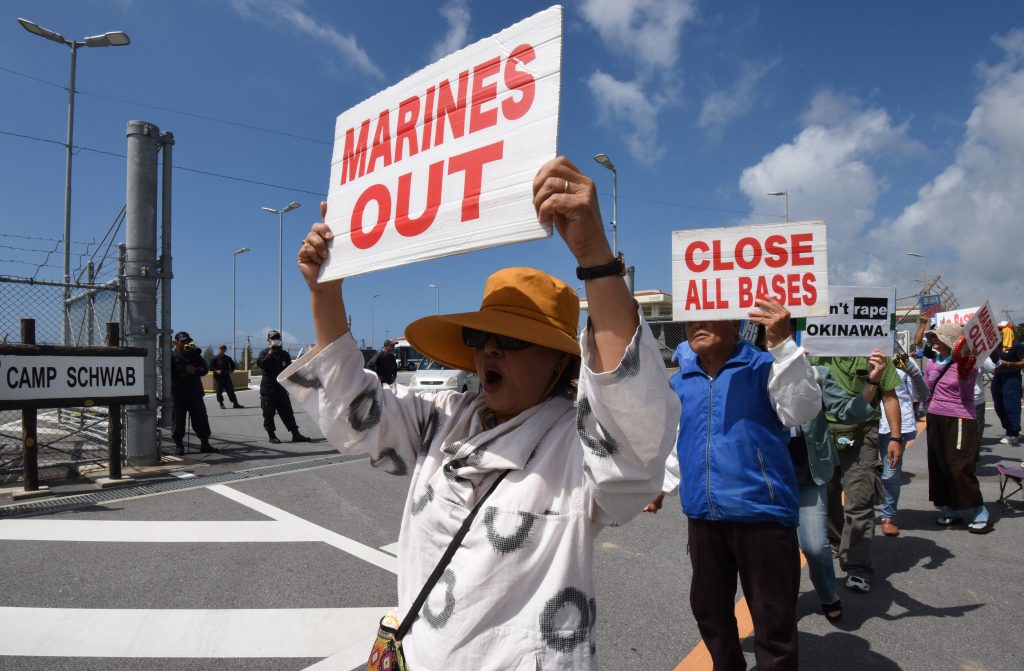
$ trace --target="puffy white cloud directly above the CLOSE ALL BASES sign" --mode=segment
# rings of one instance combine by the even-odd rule
[[[828,221],[833,284],[886,282],[884,275],[870,282],[858,275],[874,251],[860,241],[886,187],[872,164],[914,151],[916,143],[885,110],[865,109],[859,99],[833,91],[816,94],[802,119],[806,125],[793,141],[743,170],[740,190],[759,213],[778,212],[781,220],[783,203],[768,193],[784,191],[791,220]]]

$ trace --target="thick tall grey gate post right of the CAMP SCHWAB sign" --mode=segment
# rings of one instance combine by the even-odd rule
[[[124,341],[146,350],[144,406],[125,412],[129,466],[160,463],[157,439],[157,151],[160,129],[144,121],[128,122],[128,184],[125,210]]]

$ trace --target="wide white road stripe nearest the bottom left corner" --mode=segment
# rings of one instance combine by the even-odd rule
[[[351,651],[351,669],[366,663],[388,610],[0,606],[0,656],[335,659]]]

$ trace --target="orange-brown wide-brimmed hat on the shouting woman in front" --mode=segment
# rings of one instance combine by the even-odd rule
[[[406,339],[436,362],[474,372],[463,327],[580,357],[579,323],[580,297],[567,284],[535,268],[505,268],[487,278],[479,310],[424,317],[406,328]]]

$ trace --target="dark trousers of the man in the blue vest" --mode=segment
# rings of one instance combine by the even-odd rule
[[[758,669],[797,664],[800,545],[797,528],[769,522],[687,522],[690,611],[715,671],[745,671],[736,626],[736,575],[754,620]]]

